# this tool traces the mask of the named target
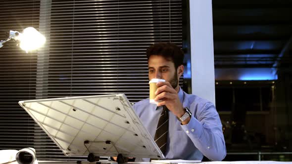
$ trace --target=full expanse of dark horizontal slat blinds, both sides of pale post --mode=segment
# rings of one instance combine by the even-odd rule
[[[146,47],[182,46],[181,0],[12,0],[0,2],[0,39],[33,26],[46,45],[0,49],[0,149],[35,147],[40,160],[65,157],[19,100],[125,93],[148,97]],[[13,8],[11,8],[11,5]],[[182,84],[182,83],[181,83]]]

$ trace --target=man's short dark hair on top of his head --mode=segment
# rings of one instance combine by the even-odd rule
[[[165,59],[174,63],[178,68],[184,62],[184,52],[174,43],[155,43],[150,45],[146,50],[147,60],[151,55],[161,55]]]

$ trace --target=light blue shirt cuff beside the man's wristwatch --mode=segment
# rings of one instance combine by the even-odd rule
[[[203,125],[194,117],[191,117],[191,120],[188,124],[181,126],[189,136],[192,135],[195,138],[199,138],[202,134]]]

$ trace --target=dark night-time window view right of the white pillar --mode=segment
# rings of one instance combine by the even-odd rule
[[[212,2],[225,160],[292,161],[292,1]]]

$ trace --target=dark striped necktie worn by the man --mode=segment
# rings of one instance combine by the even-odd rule
[[[166,108],[166,106],[163,106],[163,111],[161,112],[157,124],[154,141],[164,155],[167,142],[168,120],[168,109]]]

